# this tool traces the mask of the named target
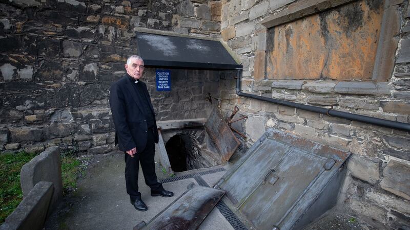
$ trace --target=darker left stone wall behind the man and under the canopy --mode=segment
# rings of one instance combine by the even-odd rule
[[[109,88],[125,74],[126,58],[138,54],[135,31],[218,38],[221,3],[2,1],[0,150],[112,151]],[[218,75],[173,70],[172,91],[157,92],[155,70],[146,68],[157,119],[206,117],[204,94],[218,92]]]

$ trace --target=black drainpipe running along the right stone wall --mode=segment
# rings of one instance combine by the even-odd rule
[[[344,118],[344,119],[348,119],[352,121],[359,121],[359,122],[383,126],[387,128],[394,128],[394,129],[410,131],[410,124],[403,123],[403,122],[389,121],[389,120],[380,119],[380,118],[372,118],[372,117],[363,116],[363,115],[350,113],[350,112],[342,112],[342,111],[337,111],[334,109],[326,109],[326,108],[321,108],[321,107],[312,106],[312,105],[304,105],[304,104],[299,104],[299,103],[280,100],[280,99],[273,99],[273,98],[267,98],[267,97],[262,97],[258,95],[253,95],[253,94],[242,93],[242,91],[240,90],[241,73],[242,73],[242,69],[238,68],[237,76],[236,76],[237,77],[236,78],[236,94],[238,96],[254,98],[254,99],[258,99],[262,101],[272,102],[278,105],[290,106],[290,107],[303,109],[303,110],[307,110],[311,112],[322,113],[322,114],[326,114],[327,116],[331,116],[331,117]]]

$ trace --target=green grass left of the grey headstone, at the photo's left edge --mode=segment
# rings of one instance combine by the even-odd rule
[[[20,170],[36,155],[26,152],[0,155],[0,223],[3,223],[23,200]]]

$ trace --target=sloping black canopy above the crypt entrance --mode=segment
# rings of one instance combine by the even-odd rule
[[[138,54],[146,66],[236,70],[236,63],[219,41],[137,32]]]

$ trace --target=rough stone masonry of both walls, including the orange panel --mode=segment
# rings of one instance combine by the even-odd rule
[[[408,123],[409,18],[407,0],[2,1],[0,147],[112,151],[109,86],[141,30],[221,39],[243,65],[244,91]],[[351,151],[340,204],[374,226],[410,225],[408,132],[237,97],[232,72],[171,75],[161,94],[155,70],[145,75],[158,120],[207,117],[211,93],[226,116],[237,105],[249,117],[234,124],[245,147],[274,127]]]

